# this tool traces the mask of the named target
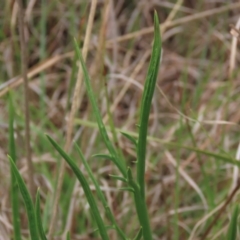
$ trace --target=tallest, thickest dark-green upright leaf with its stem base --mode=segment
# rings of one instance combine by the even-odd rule
[[[134,189],[135,206],[138,213],[138,218],[142,226],[143,238],[152,240],[152,233],[149,223],[147,206],[145,202],[145,157],[147,147],[147,129],[148,120],[151,110],[152,98],[155,90],[155,85],[158,76],[159,63],[161,57],[161,37],[159,30],[158,16],[154,13],[154,41],[152,47],[152,55],[148,67],[146,82],[141,102],[140,111],[140,127],[137,142],[137,183],[132,179],[131,170],[128,169],[128,182]]]

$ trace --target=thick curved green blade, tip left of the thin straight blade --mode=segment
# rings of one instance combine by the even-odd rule
[[[93,217],[96,220],[96,223],[98,225],[99,233],[100,233],[102,239],[108,240],[109,238],[108,238],[108,235],[107,235],[107,231],[106,231],[105,225],[103,223],[102,217],[100,215],[100,212],[98,210],[97,204],[95,202],[95,199],[93,197],[92,191],[91,191],[91,189],[90,189],[90,187],[88,185],[87,180],[85,179],[84,175],[82,174],[82,172],[80,171],[80,169],[78,168],[78,166],[74,162],[74,160],[72,158],[70,158],[70,156],[66,152],[64,152],[63,149],[51,137],[49,137],[47,135],[47,138],[51,142],[53,147],[59,152],[59,154],[69,164],[69,166],[71,167],[71,169],[75,173],[77,179],[81,183],[82,188],[83,188],[84,193],[85,193],[85,196],[87,198],[87,201],[88,201],[88,203],[90,205],[90,209],[91,209],[91,212],[93,214]]]

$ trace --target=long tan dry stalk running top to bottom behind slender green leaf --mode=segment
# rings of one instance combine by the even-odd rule
[[[87,57],[87,52],[89,49],[90,35],[92,32],[92,26],[93,26],[96,6],[97,6],[97,0],[93,0],[91,3],[91,9],[90,9],[86,35],[85,35],[85,39],[84,39],[84,46],[83,46],[83,51],[82,51],[84,60]],[[81,65],[79,65],[77,83],[76,83],[76,87],[75,87],[74,95],[73,95],[72,108],[71,108],[70,116],[69,116],[69,119],[67,122],[67,140],[66,140],[66,144],[64,146],[64,149],[66,152],[69,152],[70,148],[71,148],[74,117],[75,117],[75,114],[80,105],[79,95],[81,92],[81,86],[82,86],[82,68],[81,68]],[[50,220],[49,235],[48,235],[50,240],[53,238],[54,226],[55,226],[56,217],[57,217],[57,209],[58,209],[58,205],[59,205],[59,199],[60,199],[60,194],[61,194],[61,189],[62,189],[62,184],[63,184],[64,173],[65,173],[65,161],[62,161],[61,165],[60,165],[60,169],[59,169],[59,178],[58,178],[57,188],[56,188],[56,193],[55,193],[55,198],[54,198],[52,217]]]

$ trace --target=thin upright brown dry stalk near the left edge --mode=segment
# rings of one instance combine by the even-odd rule
[[[25,148],[28,167],[28,185],[32,197],[35,196],[35,187],[33,179],[33,163],[31,159],[31,147],[30,147],[30,114],[29,114],[29,93],[28,93],[28,77],[27,77],[27,47],[24,37],[24,10],[22,1],[18,0],[18,27],[20,33],[21,44],[21,70],[24,83],[24,114],[25,114]]]

